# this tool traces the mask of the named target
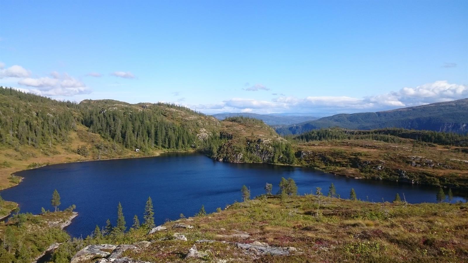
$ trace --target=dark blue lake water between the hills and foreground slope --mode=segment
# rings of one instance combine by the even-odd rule
[[[117,204],[122,203],[127,226],[133,215],[142,221],[146,199],[151,196],[156,224],[177,219],[180,213],[192,216],[205,205],[207,212],[241,201],[241,187],[250,187],[251,196],[264,192],[265,183],[278,191],[281,177],[292,177],[299,193],[315,192],[321,187],[326,194],[330,183],[337,193],[348,198],[351,188],[360,199],[392,201],[403,193],[409,203],[435,202],[438,188],[409,183],[352,179],[330,175],[311,168],[275,166],[269,164],[233,164],[201,154],[168,153],[159,157],[88,161],[46,166],[18,172],[22,183],[2,190],[1,196],[20,204],[21,212],[40,213],[41,207],[53,210],[51,197],[57,189],[60,209],[76,205],[79,216],[67,228],[72,236],[85,237],[96,225],[104,226],[109,218],[117,218]],[[454,201],[461,200],[455,197]]]

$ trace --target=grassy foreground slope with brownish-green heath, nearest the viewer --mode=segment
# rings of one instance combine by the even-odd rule
[[[167,222],[166,231],[146,235],[131,230],[117,239],[90,243],[153,241],[148,248],[127,250],[124,256],[154,263],[187,262],[189,248],[204,255],[188,262],[466,262],[467,204],[368,203],[306,195],[264,196],[235,203],[204,217]],[[320,210],[318,210],[320,208]],[[318,213],[317,213],[318,212]],[[171,228],[186,223],[193,229]],[[246,239],[223,235],[245,232]],[[177,241],[174,233],[188,241]],[[290,256],[255,256],[230,243],[196,243],[201,239],[294,247]],[[81,245],[82,247],[83,245]]]

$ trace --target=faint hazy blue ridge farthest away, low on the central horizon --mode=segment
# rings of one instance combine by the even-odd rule
[[[251,113],[251,112],[237,112],[237,113],[223,112],[223,113],[213,114],[212,116],[217,118],[218,120],[224,120],[225,118],[228,118],[228,117],[237,117],[237,116],[250,117],[250,118],[263,120],[263,122],[268,125],[291,125],[291,124],[307,122],[307,121],[318,119],[318,117],[313,117],[313,116],[295,116],[295,115],[289,115],[289,114],[283,114],[283,113],[257,114],[257,113]]]

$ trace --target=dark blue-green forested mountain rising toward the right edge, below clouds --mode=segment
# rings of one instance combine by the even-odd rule
[[[342,127],[371,130],[405,128],[414,130],[468,132],[468,98],[378,112],[336,114],[313,121],[276,127],[279,134],[300,134],[314,129]]]

